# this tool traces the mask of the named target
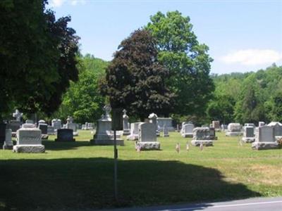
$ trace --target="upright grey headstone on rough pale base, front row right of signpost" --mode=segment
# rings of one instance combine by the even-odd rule
[[[156,127],[153,123],[139,124],[139,137],[136,144],[140,151],[160,149],[161,145],[157,141]]]

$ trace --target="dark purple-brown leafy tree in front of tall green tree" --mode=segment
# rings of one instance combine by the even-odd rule
[[[101,85],[112,108],[125,108],[141,120],[152,112],[167,115],[172,110],[173,94],[165,85],[168,70],[159,64],[157,54],[147,30],[136,30],[121,42]]]

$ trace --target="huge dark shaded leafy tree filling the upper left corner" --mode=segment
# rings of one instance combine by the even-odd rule
[[[51,114],[69,81],[78,79],[78,37],[67,26],[71,18],[56,20],[45,4],[0,2],[0,115],[11,105]]]

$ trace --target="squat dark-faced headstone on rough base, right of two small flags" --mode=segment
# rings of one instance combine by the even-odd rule
[[[191,144],[193,146],[213,146],[213,138],[210,136],[209,127],[195,127]]]

